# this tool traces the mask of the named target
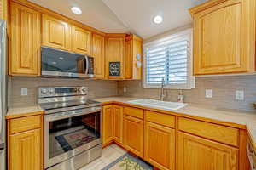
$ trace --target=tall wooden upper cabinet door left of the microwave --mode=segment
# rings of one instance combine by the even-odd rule
[[[40,14],[16,3],[10,7],[10,75],[40,74]]]

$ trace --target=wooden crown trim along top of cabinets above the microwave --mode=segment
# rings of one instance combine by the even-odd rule
[[[54,11],[48,9],[48,8],[44,8],[44,7],[41,7],[35,3],[31,3],[27,0],[11,0],[12,2],[15,2],[15,3],[20,3],[21,5],[24,5],[28,8],[33,8],[35,10],[37,10],[38,12],[42,13],[42,14],[49,14],[51,15],[52,17],[55,17],[56,19],[59,19],[59,20],[63,20],[63,21],[66,21],[72,25],[75,25],[75,26],[79,26],[80,28],[83,28],[87,31],[92,31],[94,33],[97,33],[97,34],[100,34],[102,36],[106,36],[106,33],[102,32],[102,31],[99,31],[99,30],[96,30],[96,28],[93,28],[93,27],[90,27],[90,26],[86,26],[84,25],[83,23],[77,21],[77,20],[73,20],[73,19],[70,19],[68,18],[67,16],[64,16],[62,14],[58,14],[58,13],[55,13]]]

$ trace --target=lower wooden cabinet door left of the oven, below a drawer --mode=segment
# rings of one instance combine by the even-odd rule
[[[43,169],[40,129],[10,135],[9,170]]]

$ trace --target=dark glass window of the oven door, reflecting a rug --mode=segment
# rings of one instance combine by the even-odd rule
[[[100,139],[100,112],[49,122],[49,159]]]

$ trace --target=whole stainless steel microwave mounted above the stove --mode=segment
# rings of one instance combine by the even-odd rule
[[[94,59],[55,48],[41,47],[43,77],[94,77]]]

